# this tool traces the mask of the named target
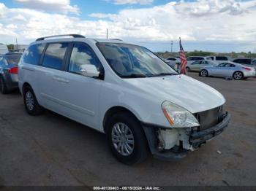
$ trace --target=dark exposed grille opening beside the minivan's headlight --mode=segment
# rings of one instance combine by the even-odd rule
[[[198,130],[205,130],[217,125],[223,118],[223,106],[194,114],[200,123]]]

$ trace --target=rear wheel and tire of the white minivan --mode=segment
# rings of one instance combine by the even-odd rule
[[[36,116],[42,114],[42,107],[38,104],[34,91],[30,86],[23,89],[23,102],[28,114]]]

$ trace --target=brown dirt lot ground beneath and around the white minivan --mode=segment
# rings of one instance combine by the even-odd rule
[[[123,165],[103,134],[53,112],[31,117],[18,92],[0,95],[0,185],[255,185],[256,78],[189,75],[225,95],[232,120],[209,144],[173,162],[149,157]]]

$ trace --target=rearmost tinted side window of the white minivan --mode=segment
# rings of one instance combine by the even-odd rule
[[[23,61],[25,63],[37,65],[42,55],[42,51],[45,49],[45,44],[34,44],[31,45],[23,53]]]

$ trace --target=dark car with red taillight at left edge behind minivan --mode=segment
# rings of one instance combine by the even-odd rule
[[[18,62],[20,53],[0,55],[0,91],[3,94],[18,88]]]

